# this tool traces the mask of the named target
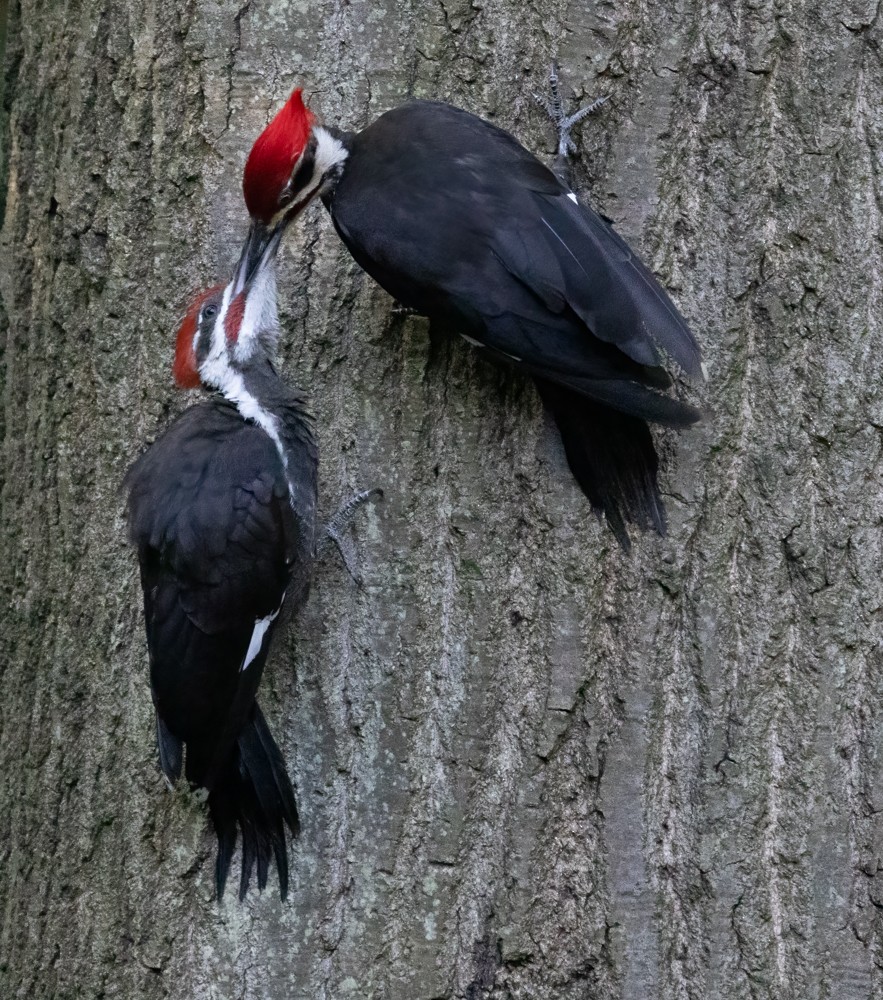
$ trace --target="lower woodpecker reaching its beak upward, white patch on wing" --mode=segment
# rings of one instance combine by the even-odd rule
[[[126,477],[160,764],[170,783],[183,766],[208,790],[219,898],[238,827],[240,898],[255,865],[264,888],[275,855],[284,899],[284,825],[298,831],[294,791],[255,701],[279,613],[306,597],[315,550],[311,419],[270,360],[277,242],[247,281],[237,274],[191,306],[175,378],[215,394],[186,410]]]

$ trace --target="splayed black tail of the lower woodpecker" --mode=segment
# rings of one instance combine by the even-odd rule
[[[215,863],[218,899],[224,894],[238,829],[242,836],[239,898],[245,898],[255,867],[258,888],[266,886],[270,861],[275,858],[279,894],[284,900],[288,895],[285,827],[296,837],[300,822],[285,762],[256,704],[239,735],[229,766],[214,782],[208,804],[218,837]]]

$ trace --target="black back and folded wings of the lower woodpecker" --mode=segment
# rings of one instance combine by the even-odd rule
[[[188,778],[210,784],[250,715],[291,578],[298,525],[284,469],[260,428],[209,403],[186,411],[126,484],[161,759],[180,769],[171,734],[187,744]]]

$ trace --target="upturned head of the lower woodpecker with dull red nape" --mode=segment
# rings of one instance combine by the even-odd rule
[[[175,381],[182,389],[202,385],[225,394],[250,363],[269,358],[279,337],[276,308],[277,231],[263,248],[247,281],[237,277],[196,296],[178,328]]]

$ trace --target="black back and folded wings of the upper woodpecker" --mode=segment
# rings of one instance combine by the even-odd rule
[[[398,299],[455,318],[499,359],[609,406],[665,423],[696,419],[655,391],[670,384],[666,358],[701,370],[671,299],[511,135],[415,101],[356,136],[351,156],[332,218]]]

